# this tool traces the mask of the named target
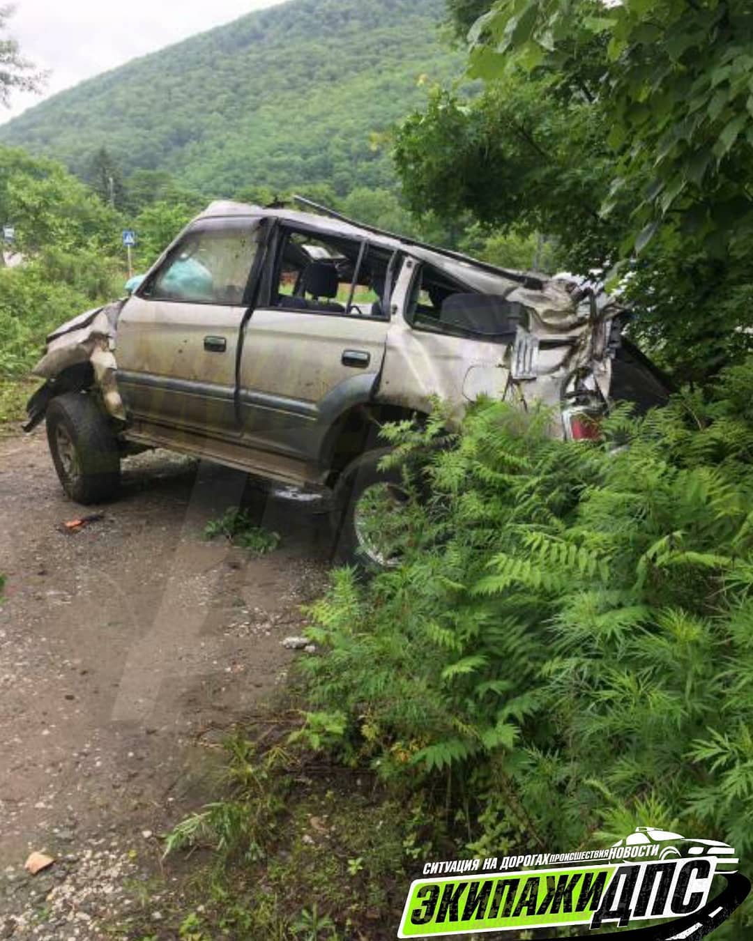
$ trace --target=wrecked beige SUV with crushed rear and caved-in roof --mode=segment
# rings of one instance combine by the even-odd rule
[[[488,395],[542,400],[582,438],[611,396],[664,395],[606,295],[309,205],[213,203],[132,295],[50,334],[25,428],[46,417],[72,500],[110,498],[123,455],[168,448],[319,488],[340,557],[381,566],[362,505],[377,486],[400,499],[382,423]]]

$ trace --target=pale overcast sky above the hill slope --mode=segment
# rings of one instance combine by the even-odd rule
[[[42,97],[134,56],[275,2],[279,0],[16,0],[9,32],[24,56],[51,74],[42,96],[16,94],[9,110],[0,106],[0,123]]]

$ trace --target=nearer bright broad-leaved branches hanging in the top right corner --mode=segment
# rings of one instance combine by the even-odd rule
[[[635,248],[684,216],[684,231],[729,250],[753,220],[753,18],[745,0],[501,0],[473,25],[473,72],[520,64],[598,104],[617,156],[605,215],[631,190]],[[585,76],[600,53],[599,88]],[[598,92],[598,93],[597,93]],[[637,199],[636,199],[637,198]]]

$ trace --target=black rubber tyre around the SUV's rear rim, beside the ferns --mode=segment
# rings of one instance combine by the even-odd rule
[[[378,574],[399,565],[397,558],[385,558],[363,538],[359,526],[360,501],[375,485],[387,485],[395,502],[405,500],[405,484],[400,468],[380,470],[379,462],[391,448],[378,448],[357,457],[343,470],[335,487],[335,509],[331,514],[334,558],[341,565],[356,566],[367,574]]]

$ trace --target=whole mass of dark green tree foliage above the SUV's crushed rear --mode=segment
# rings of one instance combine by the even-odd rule
[[[634,335],[681,376],[744,358],[753,164],[742,8],[450,7],[485,90],[469,103],[435,89],[404,123],[395,158],[411,209],[543,231],[571,270],[621,261]]]

